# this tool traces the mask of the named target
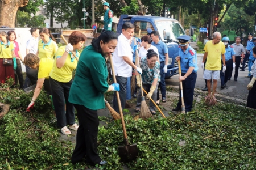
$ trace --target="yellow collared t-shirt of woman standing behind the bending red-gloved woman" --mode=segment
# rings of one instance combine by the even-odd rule
[[[56,42],[49,40],[47,44],[44,44],[42,40],[38,42],[38,57],[41,58],[51,58],[55,56],[58,46]]]

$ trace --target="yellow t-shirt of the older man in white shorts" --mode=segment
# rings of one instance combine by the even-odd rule
[[[207,62],[205,64],[205,69],[207,70],[221,70],[221,54],[226,53],[225,45],[223,42],[218,44],[212,44],[211,41],[207,41],[204,46],[204,51],[207,54]]]

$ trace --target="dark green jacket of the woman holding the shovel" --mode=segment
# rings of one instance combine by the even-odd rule
[[[105,58],[92,45],[87,46],[79,57],[68,101],[92,110],[105,108],[104,93],[109,88],[107,78]]]

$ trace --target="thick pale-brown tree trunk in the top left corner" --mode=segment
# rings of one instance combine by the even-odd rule
[[[28,0],[2,0],[0,3],[0,26],[14,28],[19,7],[26,6]]]

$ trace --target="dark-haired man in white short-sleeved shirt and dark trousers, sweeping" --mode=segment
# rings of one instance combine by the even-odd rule
[[[122,33],[118,36],[117,48],[113,53],[113,65],[117,83],[120,86],[119,97],[121,100],[122,109],[126,103],[126,84],[127,78],[131,77],[132,67],[142,74],[142,69],[135,66],[133,63],[133,54],[131,53],[130,40],[133,37],[134,25],[130,22],[125,22],[122,25]],[[117,95],[114,92],[113,108],[119,113]]]

